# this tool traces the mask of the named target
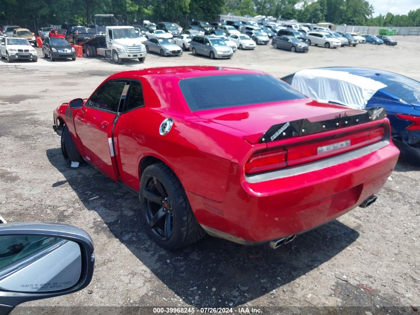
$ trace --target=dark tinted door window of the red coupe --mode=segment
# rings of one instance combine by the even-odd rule
[[[86,104],[90,107],[117,112],[126,85],[124,81],[106,82],[95,91]]]

